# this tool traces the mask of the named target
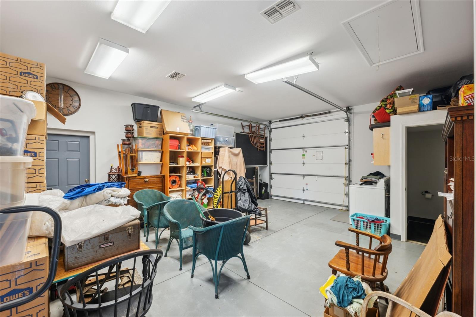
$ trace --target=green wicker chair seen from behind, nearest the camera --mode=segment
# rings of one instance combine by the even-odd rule
[[[201,254],[205,255],[208,258],[208,262],[210,262],[213,273],[215,298],[218,298],[218,283],[220,282],[221,270],[230,258],[239,258],[243,262],[248,279],[250,278],[245,255],[243,254],[243,242],[245,241],[250,217],[251,215],[248,215],[206,228],[188,227],[193,230],[193,265],[190,277],[193,277],[198,256]],[[215,267],[212,260],[215,261]],[[218,261],[222,261],[219,271]]]

